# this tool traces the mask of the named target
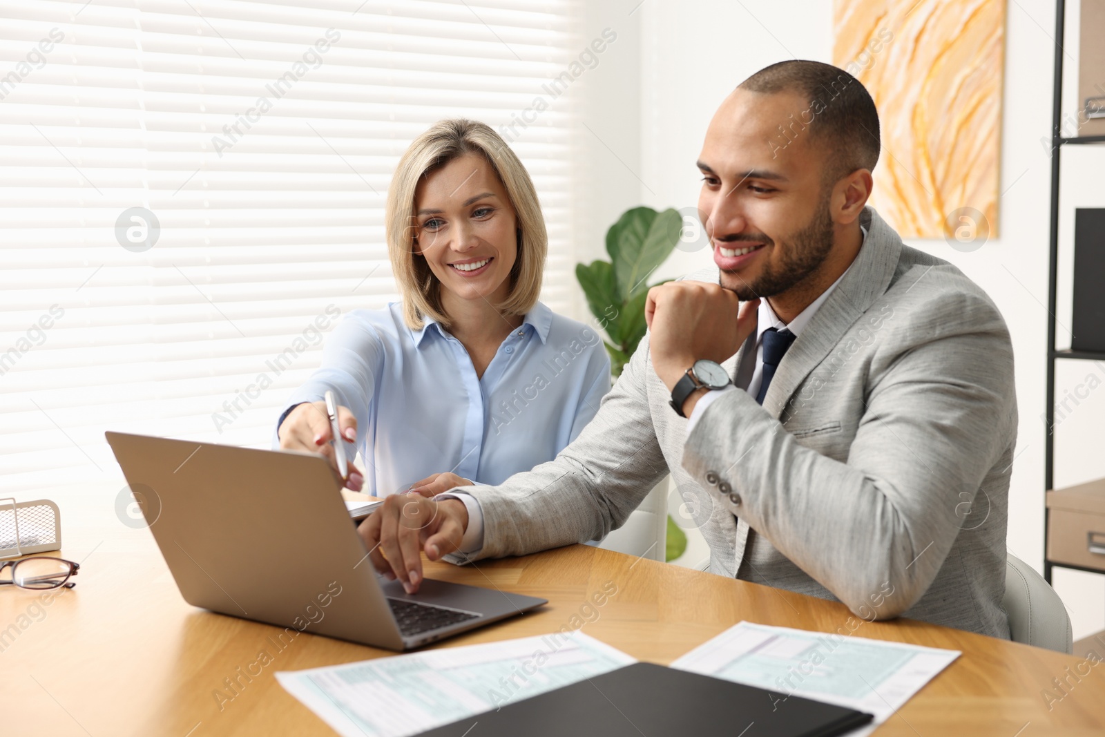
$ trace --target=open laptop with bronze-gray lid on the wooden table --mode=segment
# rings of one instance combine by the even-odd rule
[[[548,603],[433,579],[408,594],[380,577],[320,455],[104,434],[194,607],[409,650]]]

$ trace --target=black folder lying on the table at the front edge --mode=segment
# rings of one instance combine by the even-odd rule
[[[832,737],[872,715],[634,663],[422,733],[422,737]]]

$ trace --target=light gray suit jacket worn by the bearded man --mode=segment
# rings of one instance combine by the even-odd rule
[[[648,336],[582,433],[501,486],[475,558],[603,537],[671,472],[723,576],[1009,638],[1001,609],[1017,436],[1013,351],[990,298],[871,208],[852,269],[765,398],[687,421]],[[691,278],[717,282],[711,270]],[[725,362],[750,373],[755,336]],[[745,379],[747,381],[747,378]]]

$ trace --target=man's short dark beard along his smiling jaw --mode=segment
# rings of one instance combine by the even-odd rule
[[[741,240],[762,241],[764,248],[775,246],[775,241],[766,236]],[[822,197],[809,224],[794,233],[789,241],[780,241],[781,263],[778,266],[765,260],[759,277],[751,283],[745,281],[737,272],[723,271],[722,286],[736,292],[741,302],[781,294],[815,272],[829,257],[832,244],[833,221],[829,213],[829,197]],[[726,275],[729,280],[726,280]],[[735,285],[725,284],[725,281],[735,282]]]

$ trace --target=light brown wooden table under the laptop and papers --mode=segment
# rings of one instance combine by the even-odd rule
[[[273,673],[391,654],[305,634],[274,652],[262,674],[220,708],[217,689],[259,651],[273,650],[266,638],[278,630],[185,603],[149,531],[116,517],[114,492],[55,491],[19,501],[41,497],[61,506],[61,555],[80,561],[81,572],[76,588],[49,607],[32,592],[0,589],[2,735],[334,734]],[[550,602],[442,647],[544,634],[578,617],[590,619],[587,634],[666,664],[740,620],[831,632],[850,617],[840,603],[581,545],[465,568],[428,564],[427,572]],[[590,594],[608,583],[617,593],[588,610]],[[1105,734],[1105,665],[1076,682],[1066,668],[1077,673],[1082,664],[1085,672],[1080,659],[907,620],[864,623],[853,636],[962,651],[878,735]],[[1042,694],[1061,695],[1052,678],[1064,677],[1073,686],[1049,710]]]

